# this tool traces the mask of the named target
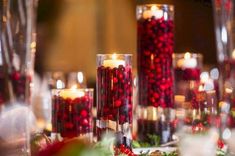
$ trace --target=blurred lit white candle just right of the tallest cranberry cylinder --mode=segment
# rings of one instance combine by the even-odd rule
[[[177,66],[182,68],[195,68],[197,66],[197,60],[193,58],[189,52],[187,52],[185,53],[183,59],[178,60]]]

